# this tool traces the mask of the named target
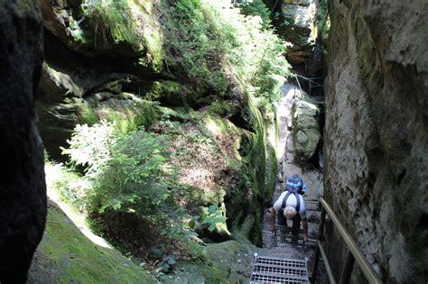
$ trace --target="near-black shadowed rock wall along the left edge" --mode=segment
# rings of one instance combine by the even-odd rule
[[[46,219],[34,91],[42,67],[36,1],[0,1],[0,282],[24,283]]]

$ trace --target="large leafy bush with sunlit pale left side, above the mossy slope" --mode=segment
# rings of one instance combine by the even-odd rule
[[[57,182],[61,197],[90,216],[93,228],[122,252],[139,260],[169,257],[151,262],[163,271],[171,268],[171,258],[188,255],[183,243],[198,235],[195,230],[212,232],[226,220],[215,205],[200,215],[182,207],[190,188],[171,160],[176,152],[172,135],[177,134],[148,133],[142,127],[123,133],[104,121],[78,125],[63,153],[85,169],[84,184],[76,182],[72,171]]]

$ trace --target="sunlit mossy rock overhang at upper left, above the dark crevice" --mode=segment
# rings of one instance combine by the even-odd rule
[[[163,36],[156,1],[40,1],[46,30],[70,50],[94,56],[135,58],[135,65],[163,69]]]

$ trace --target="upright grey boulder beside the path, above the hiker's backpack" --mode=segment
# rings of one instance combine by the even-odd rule
[[[320,109],[309,99],[297,100],[293,105],[293,149],[295,158],[309,160],[321,138],[318,115]]]

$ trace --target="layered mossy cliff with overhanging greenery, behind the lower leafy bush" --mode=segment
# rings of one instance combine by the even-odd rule
[[[167,134],[174,148],[168,163],[189,190],[181,197],[191,198],[180,206],[200,216],[219,206],[230,231],[261,243],[261,208],[276,169],[274,105],[289,67],[274,32],[228,1],[40,4],[45,60],[36,104],[50,158],[69,158],[62,148],[79,124]],[[220,230],[226,224],[216,228],[220,235],[208,227],[198,232],[230,238]],[[154,246],[141,235],[140,248]]]

